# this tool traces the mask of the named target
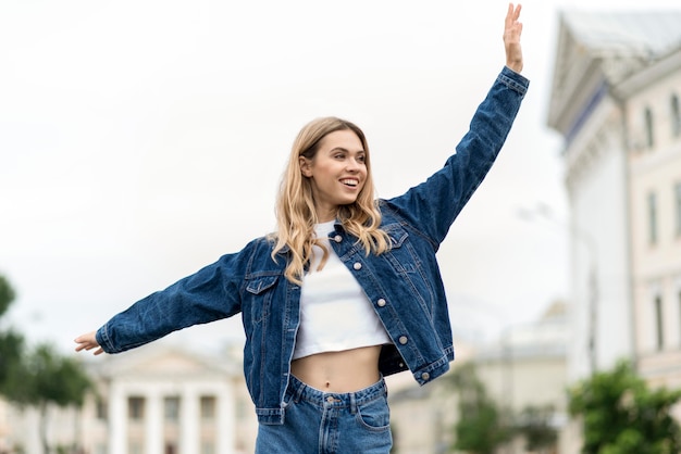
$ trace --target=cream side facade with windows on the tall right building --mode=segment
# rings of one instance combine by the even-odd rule
[[[637,367],[653,384],[681,388],[681,43],[617,92],[628,100],[635,144],[629,194]]]

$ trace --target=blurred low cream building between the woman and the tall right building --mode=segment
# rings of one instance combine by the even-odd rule
[[[474,362],[488,394],[500,408],[510,409],[513,420],[529,407],[550,408],[550,424],[559,431],[567,419],[567,308],[556,302],[535,323],[509,327],[496,341],[459,354],[453,370]],[[449,374],[421,388],[391,387],[391,418],[399,454],[450,452],[461,415]],[[524,440],[518,438],[503,451],[525,452]]]

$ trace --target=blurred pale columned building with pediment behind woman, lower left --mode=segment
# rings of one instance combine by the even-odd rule
[[[96,383],[84,407],[49,408],[52,446],[88,454],[244,454],[257,418],[240,361],[162,340],[88,363]],[[35,409],[11,408],[10,447],[42,452]]]

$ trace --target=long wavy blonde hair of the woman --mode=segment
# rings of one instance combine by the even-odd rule
[[[380,228],[381,212],[375,202],[371,160],[364,133],[357,125],[340,118],[313,119],[302,127],[292,147],[276,200],[277,231],[273,234],[276,244],[272,257],[276,260],[275,255],[288,247],[289,258],[285,276],[298,285],[302,283],[305,268],[310,263],[314,244],[324,251],[320,269],[329,256],[326,248],[318,242],[314,236],[314,225],[319,223],[319,218],[314,210],[310,179],[304,177],[300,168],[300,156],[314,159],[322,139],[337,130],[351,130],[361,141],[366,152],[367,181],[354,203],[338,206],[336,219],[348,232],[358,238],[367,255],[371,252],[380,254],[389,247],[387,235]]]

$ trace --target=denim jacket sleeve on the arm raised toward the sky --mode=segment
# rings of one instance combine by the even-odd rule
[[[426,181],[386,201],[428,236],[435,250],[496,160],[529,84],[520,74],[504,67],[445,166]]]

